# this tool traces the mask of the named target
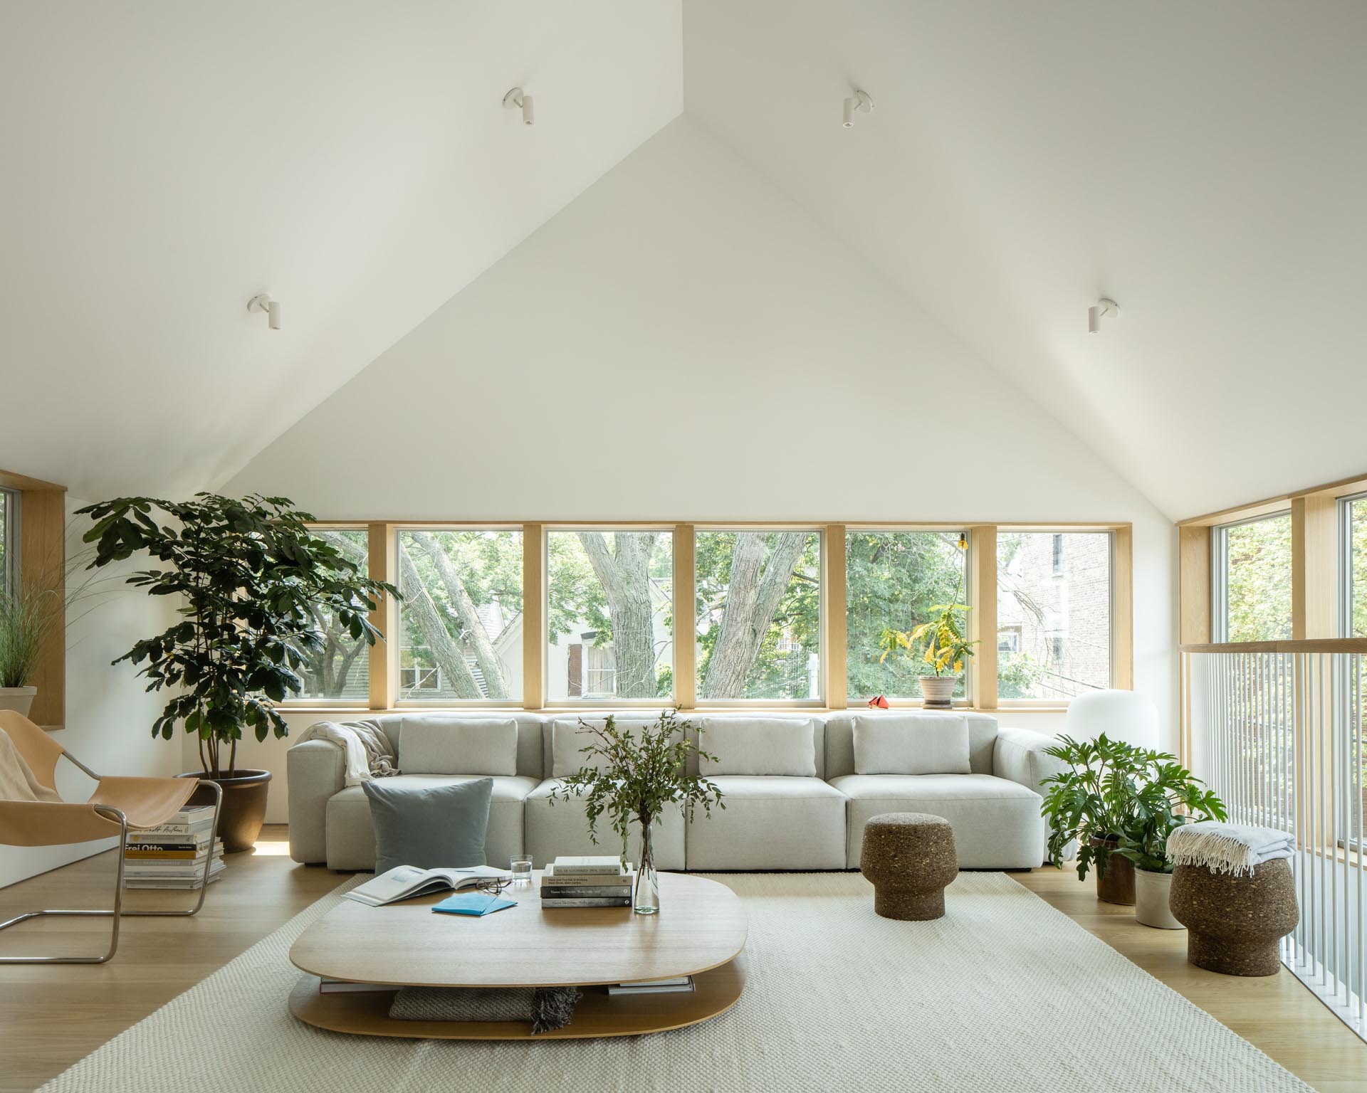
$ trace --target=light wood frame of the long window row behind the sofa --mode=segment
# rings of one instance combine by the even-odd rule
[[[1009,709],[1012,713],[1050,713],[1068,709],[1066,701],[1014,700],[1001,702],[997,687],[997,536],[999,531],[1109,531],[1111,534],[1111,686],[1129,690],[1135,684],[1133,660],[1133,529],[1128,522],[1044,522],[1044,523],[983,523],[983,522],[891,522],[891,521],[850,521],[846,523],[822,523],[813,521],[317,521],[317,527],[365,527],[369,542],[370,575],[394,583],[396,581],[396,555],[399,529],[425,527],[432,530],[469,529],[521,529],[522,531],[522,701],[521,702],[478,702],[462,701],[450,704],[421,704],[422,708],[442,706],[478,709],[524,709],[529,712],[563,712],[585,708],[638,708],[644,700],[596,701],[584,704],[580,700],[547,701],[547,531],[576,529],[630,530],[659,529],[674,537],[674,702],[682,710],[704,709],[808,709],[813,712],[843,712],[863,708],[861,698],[848,694],[848,642],[846,630],[846,553],[845,536],[849,530],[880,531],[965,531],[968,536],[968,604],[971,635],[982,642],[973,657],[973,682],[971,701],[964,709],[995,713]],[[678,638],[678,604],[692,604],[696,600],[696,533],[699,530],[750,530],[819,531],[822,536],[822,698],[808,701],[699,701],[697,698],[697,648],[696,641]],[[1187,556],[1188,541],[1199,540],[1196,533],[1184,533],[1182,557]],[[1208,568],[1208,536],[1204,553]],[[1185,579],[1185,568],[1184,568]],[[1208,597],[1207,597],[1208,600]],[[1184,611],[1187,600],[1182,600]],[[689,615],[692,612],[688,612]],[[399,633],[398,604],[392,597],[380,597],[372,615],[372,622],[385,638]],[[1207,603],[1208,624],[1208,603]],[[696,628],[685,623],[692,635]],[[1188,633],[1184,615],[1184,635]],[[1193,631],[1195,633],[1195,631]],[[1185,639],[1185,637],[1184,637]],[[370,713],[391,713],[413,709],[413,705],[398,702],[398,644],[384,641],[370,649]],[[895,700],[897,708],[917,709],[920,702],[909,698]],[[336,712],[336,704],[320,704],[313,700],[291,700],[282,708],[293,713],[317,710]],[[360,710],[360,706],[351,706]]]

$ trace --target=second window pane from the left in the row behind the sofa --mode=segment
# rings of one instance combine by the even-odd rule
[[[521,701],[522,533],[401,530],[399,698]]]

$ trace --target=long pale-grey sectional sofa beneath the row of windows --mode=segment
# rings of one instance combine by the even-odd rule
[[[626,727],[658,716],[614,713]],[[582,806],[552,802],[552,791],[584,762],[578,717],[604,716],[414,710],[377,720],[395,746],[403,771],[395,779],[399,783],[432,786],[492,776],[488,861],[502,863],[529,853],[541,866],[558,854],[595,848]],[[1043,751],[1053,739],[1002,728],[984,713],[957,717],[966,720],[968,751],[940,760],[930,743],[934,734],[949,734],[946,739],[953,741],[960,732],[942,724],[945,715],[690,715],[692,731],[701,730],[703,747],[719,760],[704,761],[697,773],[716,783],[726,807],[714,807],[709,818],[697,814],[692,824],[685,824],[681,812],[666,816],[653,832],[656,862],[660,869],[689,870],[856,869],[869,817],[925,812],[954,825],[960,868],[1040,865],[1039,784],[1062,769]],[[413,772],[405,764],[406,725],[410,760],[421,768]],[[491,750],[483,743],[487,738],[502,743]],[[956,772],[908,773],[938,762]],[[436,769],[442,766],[451,769]],[[373,869],[369,801],[360,786],[344,784],[342,750],[325,741],[295,745],[288,751],[288,781],[291,857],[332,869]],[[617,848],[614,839],[600,825],[599,844],[608,853]]]

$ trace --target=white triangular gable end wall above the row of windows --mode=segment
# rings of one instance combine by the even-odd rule
[[[1129,521],[1136,686],[1176,743],[1172,523],[688,117],[227,489],[329,519]]]

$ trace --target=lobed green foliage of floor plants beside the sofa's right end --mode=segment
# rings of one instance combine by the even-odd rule
[[[1040,812],[1048,824],[1048,859],[1062,868],[1064,850],[1077,840],[1077,876],[1095,865],[1106,876],[1111,854],[1139,869],[1170,873],[1167,836],[1193,820],[1225,820],[1225,805],[1192,777],[1176,756],[1152,751],[1106,734],[1095,741],[1061,736],[1046,754],[1069,769],[1046,777]],[[1098,840],[1092,846],[1091,840]]]

